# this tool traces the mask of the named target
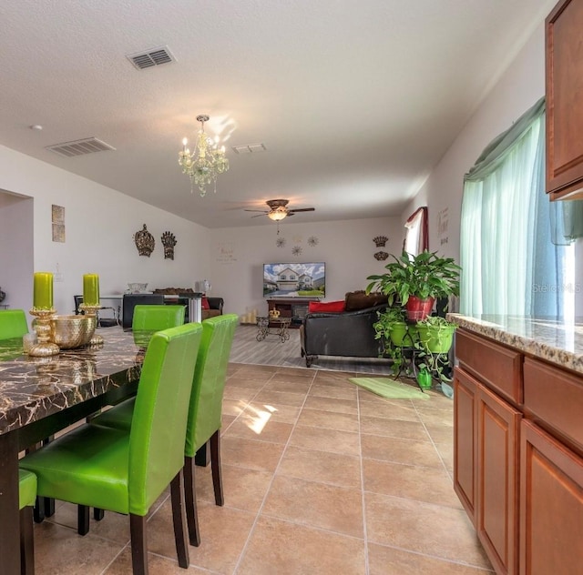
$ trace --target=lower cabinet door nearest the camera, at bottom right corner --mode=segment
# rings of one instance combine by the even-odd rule
[[[520,573],[579,575],[583,459],[529,421],[520,434]]]

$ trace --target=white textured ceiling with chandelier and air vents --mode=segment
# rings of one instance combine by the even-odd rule
[[[400,215],[553,4],[0,0],[0,144],[206,227],[273,225],[242,208],[277,197],[316,208],[293,222]],[[126,58],[161,45],[176,62]],[[230,160],[204,198],[177,162],[199,114]],[[45,149],[90,136],[116,151]]]

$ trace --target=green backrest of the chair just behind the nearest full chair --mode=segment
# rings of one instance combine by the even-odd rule
[[[190,397],[189,423],[184,455],[196,451],[220,429],[222,396],[227,378],[230,348],[239,323],[236,314],[202,322],[202,340]]]

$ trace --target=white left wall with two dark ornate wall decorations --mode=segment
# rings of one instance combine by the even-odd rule
[[[73,295],[82,293],[84,273],[99,274],[102,294],[123,293],[133,281],[148,282],[148,288],[194,287],[194,280],[210,276],[206,227],[4,146],[0,146],[0,189],[32,197],[34,202],[34,255],[3,248],[0,264],[11,269],[19,257],[27,270],[55,273],[58,269],[63,275],[54,286],[58,313],[72,312]],[[52,241],[53,204],[65,207],[65,243]],[[0,221],[12,218],[8,209],[0,204]],[[138,256],[134,244],[133,235],[143,224],[156,239],[151,257]],[[174,260],[164,259],[160,237],[165,231],[178,240]],[[26,276],[11,286],[11,291],[24,294],[11,308],[32,305],[32,275]]]

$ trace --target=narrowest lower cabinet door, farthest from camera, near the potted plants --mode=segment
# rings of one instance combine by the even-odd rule
[[[476,527],[476,379],[454,372],[454,489]]]

